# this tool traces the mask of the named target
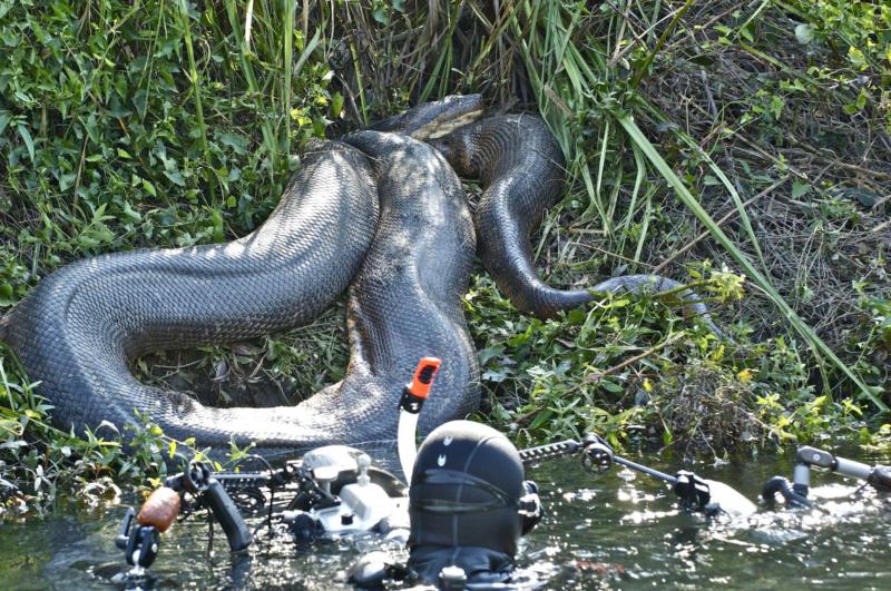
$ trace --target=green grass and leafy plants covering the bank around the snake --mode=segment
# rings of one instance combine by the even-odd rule
[[[717,455],[887,440],[891,8],[495,6],[0,0],[0,313],[85,256],[244,235],[311,138],[480,91],[538,110],[567,155],[567,197],[533,237],[551,284],[687,280],[735,341],[674,297],[528,318],[479,269],[467,312],[486,421],[521,443],[596,429]],[[283,404],[346,358],[341,306],[136,368],[205,402]],[[114,437],[53,430],[51,412],[0,348],[9,508],[163,470],[150,424],[131,459]]]

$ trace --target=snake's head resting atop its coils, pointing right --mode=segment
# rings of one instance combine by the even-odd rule
[[[440,138],[482,115],[481,95],[451,95],[388,117],[369,129],[403,134],[421,141]]]

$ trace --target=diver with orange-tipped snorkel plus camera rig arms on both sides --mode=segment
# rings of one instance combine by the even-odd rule
[[[133,567],[128,577],[141,580],[158,554],[160,534],[183,508],[207,508],[235,553],[246,550],[260,530],[247,528],[242,510],[262,510],[267,516],[261,526],[272,532],[273,522],[284,523],[295,541],[374,532],[408,546],[402,561],[380,551],[362,556],[350,571],[350,582],[361,588],[390,582],[440,589],[535,587],[537,581],[516,562],[520,538],[542,515],[538,487],[526,480],[525,465],[570,455],[580,455],[582,469],[593,474],[618,464],[672,484],[682,506],[709,518],[745,519],[756,511],[721,482],[687,471],[673,476],[638,464],[615,454],[593,433],[581,441],[518,451],[492,427],[452,421],[417,447],[419,414],[440,364],[439,358],[422,357],[400,400],[396,447],[408,491],[395,474],[375,467],[368,454],[343,445],[323,446],[260,472],[214,472],[206,462],[193,460],[154,491],[138,514],[130,510],[125,515],[116,544]],[[817,465],[813,454],[806,460]],[[849,464],[842,467],[849,470]],[[251,503],[239,504],[246,500]]]

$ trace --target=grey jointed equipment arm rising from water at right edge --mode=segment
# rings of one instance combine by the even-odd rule
[[[783,476],[774,476],[764,483],[761,496],[773,503],[780,494],[790,508],[811,508],[807,499],[811,489],[811,467],[819,467],[865,482],[875,490],[891,492],[891,466],[863,464],[846,460],[830,452],[804,445],[795,453],[795,467],[792,482]]]

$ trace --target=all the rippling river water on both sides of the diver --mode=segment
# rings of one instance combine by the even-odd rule
[[[848,455],[851,456],[850,454]],[[856,457],[889,463],[884,457]],[[643,463],[673,473],[677,463]],[[772,475],[791,477],[790,460],[693,466],[754,500]],[[594,477],[577,459],[530,471],[547,516],[523,539],[519,563],[548,589],[888,589],[891,585],[891,496],[834,474],[813,472],[813,511],[758,512],[718,523],[679,512],[667,485],[614,469]],[[125,503],[92,511],[61,506],[45,519],[0,525],[0,589],[109,589],[127,571],[114,543]],[[254,521],[253,523],[258,523]],[[146,587],[156,589],[339,589],[363,552],[395,543],[374,535],[298,548],[265,531],[241,556],[217,528],[177,522],[161,540]]]

